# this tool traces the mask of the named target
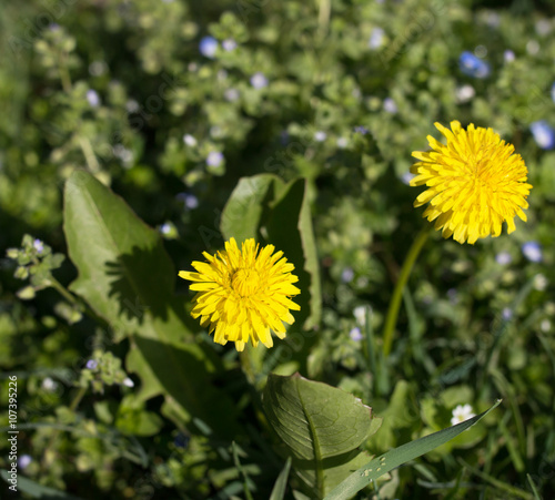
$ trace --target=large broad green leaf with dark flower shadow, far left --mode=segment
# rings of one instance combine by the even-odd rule
[[[186,327],[184,304],[173,289],[176,273],[160,235],[80,171],[65,184],[64,231],[79,271],[70,289],[110,324],[115,340],[130,337],[127,367],[142,378],[138,398],[162,394],[164,411],[178,424],[195,417],[231,435],[234,408],[210,384],[219,360]]]

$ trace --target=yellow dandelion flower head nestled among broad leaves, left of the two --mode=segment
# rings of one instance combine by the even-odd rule
[[[274,249],[266,245],[259,253],[253,238],[239,249],[231,238],[216,255],[203,252],[208,263],[192,263],[198,273],[180,271],[179,276],[193,282],[190,288],[198,292],[191,315],[201,318],[215,343],[234,341],[241,351],[249,338],[254,347],[259,341],[272,347],[271,329],[285,337],[283,322],[292,325],[295,320],[289,309],[301,309],[291,297],[301,290],[293,285],[299,280],[291,274],[295,267]]]

